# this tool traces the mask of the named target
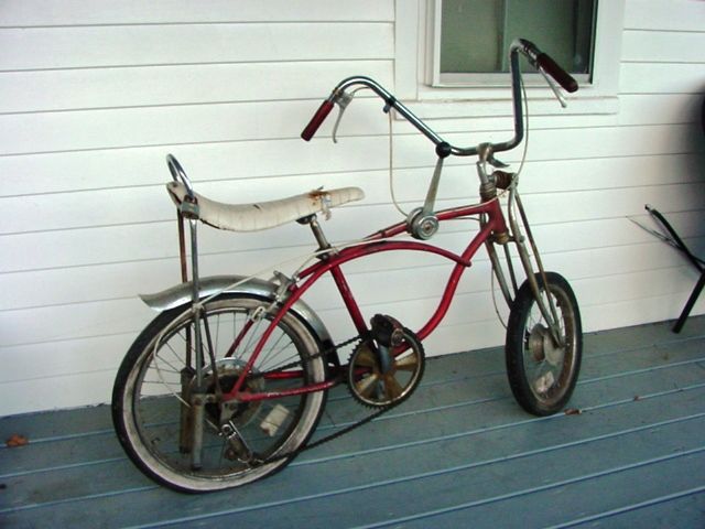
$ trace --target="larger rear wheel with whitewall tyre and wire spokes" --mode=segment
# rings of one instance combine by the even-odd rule
[[[224,294],[205,303],[200,328],[208,401],[196,465],[192,454],[192,425],[198,415],[192,406],[196,384],[191,304],[164,312],[137,338],[116,378],[112,419],[126,452],[148,476],[185,492],[235,487],[282,468],[311,436],[323,411],[324,391],[232,402],[228,420],[241,442],[229,442],[219,428],[224,415],[216,386],[228,391],[243,371],[270,323],[269,316],[252,315],[269,304],[241,294]],[[294,314],[286,314],[242,390],[275,392],[324,381],[325,363],[318,352],[308,327]]]

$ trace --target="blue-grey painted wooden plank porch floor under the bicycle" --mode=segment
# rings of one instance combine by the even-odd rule
[[[3,418],[0,527],[705,527],[705,316],[584,352],[579,413],[524,413],[499,348],[445,356],[399,408],[209,495],[140,474],[107,406]],[[365,412],[338,389],[318,435]]]

